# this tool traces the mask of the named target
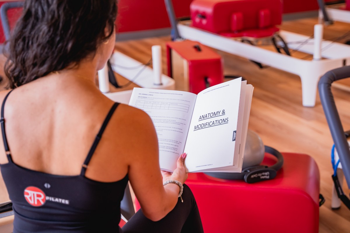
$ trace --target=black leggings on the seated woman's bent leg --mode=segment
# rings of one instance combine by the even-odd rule
[[[152,233],[203,233],[201,216],[196,200],[190,188],[184,184],[181,199],[167,216],[159,221],[145,217],[141,209],[123,226],[123,233],[152,232]]]

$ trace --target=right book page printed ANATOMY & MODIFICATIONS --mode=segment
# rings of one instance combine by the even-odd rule
[[[241,78],[209,87],[197,95],[184,152],[188,172],[235,166]],[[239,144],[239,142],[238,142]]]

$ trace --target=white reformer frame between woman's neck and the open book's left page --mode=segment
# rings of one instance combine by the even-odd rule
[[[158,61],[161,63],[161,59],[158,59]],[[133,81],[135,84],[137,84],[142,88],[175,90],[174,79],[168,77],[165,74],[161,74],[161,85],[154,84],[155,79],[157,79],[158,81],[159,77],[154,77],[153,69],[148,66],[144,67],[144,65],[139,61],[134,60],[123,53],[114,52],[112,57],[110,58],[110,63],[112,65],[114,72],[120,74],[121,76],[123,76],[128,80]],[[130,69],[122,68],[122,66],[123,67],[139,66],[139,68],[130,70]],[[138,77],[135,80],[132,80],[135,77],[135,75],[137,75],[138,72],[140,72],[141,69],[143,69],[143,71],[141,71],[141,73],[138,75]],[[106,70],[107,70],[107,66],[105,66],[102,70],[98,72],[99,83],[103,83],[102,85],[100,84],[101,92],[115,102],[128,104],[131,97],[132,90],[124,90],[120,92],[109,92],[109,87],[106,88],[106,86],[109,85],[108,72]],[[157,74],[158,73],[156,73],[156,75]]]

